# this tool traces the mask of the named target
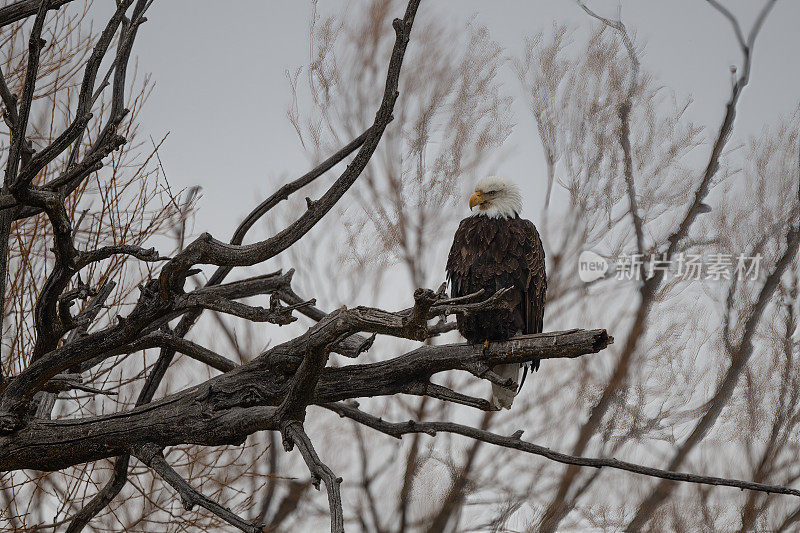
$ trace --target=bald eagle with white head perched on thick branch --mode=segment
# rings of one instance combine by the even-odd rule
[[[499,176],[483,178],[475,185],[469,207],[478,209],[461,221],[447,258],[450,294],[464,296],[483,289],[484,296],[489,296],[510,287],[508,296],[513,305],[459,315],[458,331],[472,344],[541,333],[547,290],[544,248],[533,222],[519,216],[519,188]],[[532,366],[538,370],[539,361],[533,361]],[[493,370],[520,383],[519,364],[497,365]],[[514,391],[492,383],[491,403],[495,407],[510,409],[514,396]]]

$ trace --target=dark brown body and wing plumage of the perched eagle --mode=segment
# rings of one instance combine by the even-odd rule
[[[462,220],[447,258],[447,276],[453,297],[481,289],[489,296],[512,287],[511,308],[458,316],[458,331],[470,343],[541,333],[547,277],[542,241],[530,220],[483,215]],[[533,367],[538,369],[539,362]]]

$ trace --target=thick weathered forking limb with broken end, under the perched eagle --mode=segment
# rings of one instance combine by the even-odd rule
[[[275,346],[245,365],[153,403],[149,403],[152,396],[144,396],[147,401],[129,411],[76,419],[30,420],[11,436],[0,437],[0,471],[60,469],[124,455],[135,442],[160,447],[188,442],[239,444],[255,431],[280,430],[286,421],[281,418],[286,410],[279,413],[277,406],[283,402],[286,387],[302,363],[297,354],[329,346],[352,330],[387,330],[386,325],[378,324],[382,320],[379,317],[389,322],[395,319],[384,313],[365,308],[340,310],[300,337]],[[395,332],[400,333],[402,327],[388,330],[397,328]],[[477,362],[496,365],[575,358],[599,352],[611,341],[605,330],[577,330],[518,337],[492,343],[487,350],[468,344],[424,345],[388,361],[325,368],[311,403],[394,395],[402,393],[408,383],[448,370],[467,370]],[[143,391],[152,394],[150,387]],[[50,451],[43,454],[43,449]]]

